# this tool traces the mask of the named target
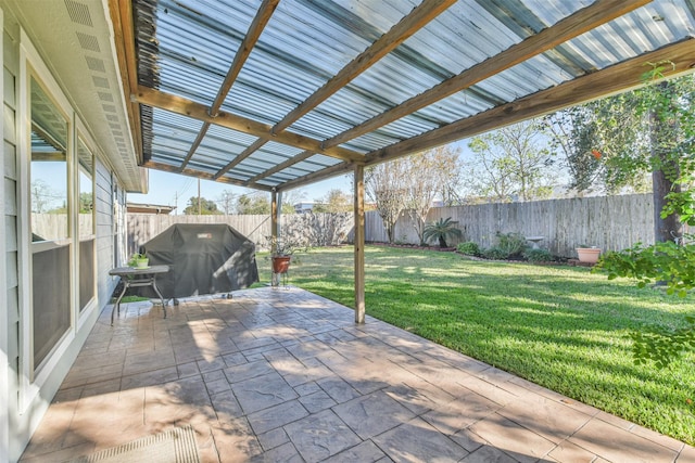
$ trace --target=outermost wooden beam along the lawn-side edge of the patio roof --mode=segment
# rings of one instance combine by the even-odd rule
[[[695,53],[693,50],[695,50],[695,38],[684,39],[596,73],[493,107],[476,116],[459,119],[439,129],[376,150],[365,156],[365,165],[369,166],[395,159],[473,137],[498,127],[548,114],[564,107],[636,88],[642,85],[641,77],[645,72],[646,63],[670,61],[673,63],[674,68],[669,77],[692,72],[695,67]],[[328,169],[286,182],[279,188],[282,190],[298,188],[306,183],[348,173],[352,169],[351,163],[337,164]]]

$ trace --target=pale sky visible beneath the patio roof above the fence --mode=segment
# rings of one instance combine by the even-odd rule
[[[452,145],[462,149],[462,156],[466,156],[470,151],[467,147],[467,140],[463,140]],[[333,189],[350,193],[352,189],[352,175],[338,176],[328,180],[301,187],[289,192],[293,198],[301,201],[320,201]],[[229,190],[237,195],[253,193],[256,190],[235,187],[228,183],[213,182],[210,180],[200,181],[200,195],[208,201],[217,201],[225,190]],[[129,203],[155,204],[159,206],[176,206],[172,214],[182,214],[188,201],[198,197],[198,179],[179,173],[164,172],[150,169],[150,190],[148,194],[128,193]]]

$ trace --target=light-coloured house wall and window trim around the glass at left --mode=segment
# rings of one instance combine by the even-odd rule
[[[11,12],[3,9],[0,0],[0,24],[2,30],[3,73],[2,102],[2,163],[0,163],[0,461],[15,462],[22,455],[36,426],[41,421],[49,403],[58,391],[70,366],[79,353],[99,313],[109,304],[117,281],[109,275],[117,259],[117,248],[125,248],[125,227],[117,227],[125,219],[125,191],[119,180],[109,167],[106,156],[100,147],[91,143],[94,154],[94,220],[96,220],[96,262],[97,292],[94,300],[83,311],[78,298],[72,298],[73,320],[71,327],[59,348],[51,355],[42,371],[28,371],[27,357],[31,355],[31,231],[29,205],[29,177],[27,169],[30,149],[24,140],[28,139],[29,119],[22,95],[26,95],[28,78],[23,66],[26,36],[21,31],[17,21]],[[33,57],[36,60],[36,56]],[[46,69],[42,70],[46,74]],[[43,74],[43,75],[45,75]],[[60,81],[58,76],[47,76]],[[55,88],[55,87],[54,87]],[[55,90],[60,92],[60,90]],[[68,112],[70,113],[70,112]],[[68,114],[72,139],[76,139],[79,116],[73,111]],[[84,129],[86,130],[86,129]],[[91,140],[91,139],[90,139]],[[76,162],[75,162],[76,165]],[[77,194],[73,188],[72,194]],[[124,217],[117,218],[115,215]],[[77,219],[74,218],[73,227]],[[72,249],[78,248],[77,239]],[[76,250],[73,250],[76,253]],[[123,253],[123,250],[122,250]],[[77,258],[72,258],[71,272],[79,275],[76,269]],[[76,284],[73,284],[75,291]]]

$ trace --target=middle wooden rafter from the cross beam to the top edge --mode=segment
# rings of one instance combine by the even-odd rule
[[[393,51],[396,47],[407,40],[410,36],[421,29],[430,21],[439,16],[448,7],[456,3],[456,0],[425,0],[418,7],[388,33],[379,37],[365,51],[348,63],[333,77],[331,77],[321,88],[311,94],[294,110],[289,112],[282,120],[274,127],[275,131],[282,131],[306,113],[326,101],[337,91],[342,89],[351,80],[364,73],[383,56]],[[339,143],[336,143],[339,144]]]

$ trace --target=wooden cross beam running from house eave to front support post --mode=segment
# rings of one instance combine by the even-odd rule
[[[215,124],[220,127],[237,130],[254,137],[294,146],[300,150],[307,150],[313,153],[323,154],[341,160],[361,162],[364,159],[364,155],[356,151],[345,150],[340,146],[324,149],[321,146],[321,142],[318,140],[292,133],[287,130],[281,132],[271,132],[269,125],[248,119],[245,117],[236,116],[226,112],[219,112],[217,116],[213,117],[207,113],[207,106],[203,104],[148,87],[139,86],[138,92],[134,94],[132,98],[140,104],[147,104],[148,106],[169,111],[204,123]]]

